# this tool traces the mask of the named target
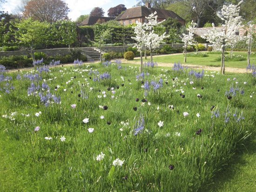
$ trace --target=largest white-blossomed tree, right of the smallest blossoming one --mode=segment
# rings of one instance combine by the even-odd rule
[[[208,31],[208,34],[202,36],[202,38],[207,39],[210,43],[214,45],[221,45],[222,48],[222,62],[221,62],[221,71],[222,74],[225,73],[225,45],[234,45],[236,42],[234,39],[236,37],[236,31],[242,27],[242,17],[239,16],[239,5],[243,2],[240,1],[237,5],[230,4],[229,6],[223,5],[221,13],[218,13],[218,17],[223,20],[223,29],[222,31],[217,31],[214,24],[213,29]]]

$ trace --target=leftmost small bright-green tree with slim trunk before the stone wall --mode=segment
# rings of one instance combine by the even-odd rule
[[[21,20],[20,23],[13,23],[17,30],[15,33],[16,42],[22,46],[29,46],[34,61],[34,46],[46,42],[48,40],[48,31],[50,24],[32,20]]]

